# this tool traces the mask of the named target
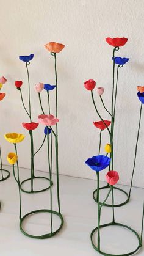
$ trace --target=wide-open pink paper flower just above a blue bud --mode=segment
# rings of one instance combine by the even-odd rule
[[[59,119],[54,117],[54,115],[38,115],[38,123],[42,123],[46,126],[56,125]]]

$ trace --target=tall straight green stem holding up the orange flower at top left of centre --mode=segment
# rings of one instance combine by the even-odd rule
[[[58,104],[57,104],[57,58],[56,53],[51,53],[54,56],[54,70],[55,70],[55,79],[56,79],[56,117],[58,112]],[[59,196],[59,148],[58,148],[58,127],[56,123],[56,137],[55,137],[55,144],[56,144],[56,172],[57,172],[57,202],[59,207],[60,213],[60,196]]]

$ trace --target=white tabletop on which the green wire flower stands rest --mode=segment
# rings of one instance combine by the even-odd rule
[[[97,225],[97,205],[92,198],[96,181],[60,175],[60,202],[65,224],[62,230],[52,238],[36,240],[29,238],[19,229],[18,219],[18,186],[13,178],[12,168],[10,178],[0,183],[0,255],[1,256],[95,256],[99,255],[90,242],[90,232]],[[21,181],[29,177],[30,171],[20,169]],[[36,175],[48,177],[45,172],[36,172]],[[37,188],[48,185],[46,181],[37,181]],[[27,184],[28,185],[28,184]],[[104,182],[101,182],[104,185]],[[128,186],[119,186],[129,191]],[[57,210],[56,203],[56,176],[54,175],[53,210]],[[102,192],[102,194],[104,191]],[[32,210],[49,209],[49,191],[22,196],[22,214]],[[103,195],[104,196],[104,195]],[[119,197],[118,197],[119,196]],[[115,192],[115,202],[122,202],[123,194]],[[142,207],[144,189],[132,188],[130,202],[115,208],[115,220],[132,227],[140,233],[142,222]],[[109,199],[110,200],[110,199]],[[59,218],[54,217],[54,228],[59,225]],[[103,207],[101,224],[112,221],[112,209]],[[34,235],[48,233],[49,214],[35,214],[27,218],[24,229]],[[122,254],[137,247],[135,235],[120,227],[101,229],[101,249],[113,254]],[[122,246],[123,243],[123,246]],[[144,241],[143,241],[144,243]],[[137,255],[144,255],[141,249]]]

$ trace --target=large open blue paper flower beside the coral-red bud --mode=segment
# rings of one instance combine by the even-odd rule
[[[88,158],[87,161],[85,161],[85,164],[92,170],[99,172],[109,166],[110,158],[104,155],[93,156],[92,158]]]

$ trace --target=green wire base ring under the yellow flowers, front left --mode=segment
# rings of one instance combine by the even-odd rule
[[[27,216],[30,216],[31,214],[35,214],[35,213],[52,213],[52,214],[56,214],[57,216],[59,216],[59,218],[61,220],[61,224],[60,224],[59,229],[57,229],[56,231],[54,231],[52,233],[48,233],[48,234],[44,234],[44,235],[40,235],[40,236],[35,236],[35,235],[31,235],[29,233],[26,233],[23,230],[23,221],[24,221],[25,218],[27,218]],[[52,236],[56,235],[56,233],[58,233],[59,230],[62,228],[63,223],[64,223],[64,221],[63,221],[62,214],[58,213],[57,211],[53,211],[53,210],[41,209],[41,210],[31,211],[31,213],[27,213],[26,215],[24,215],[23,218],[20,219],[20,230],[21,230],[21,232],[24,235],[29,236],[31,238],[45,239],[45,238],[51,238]]]

